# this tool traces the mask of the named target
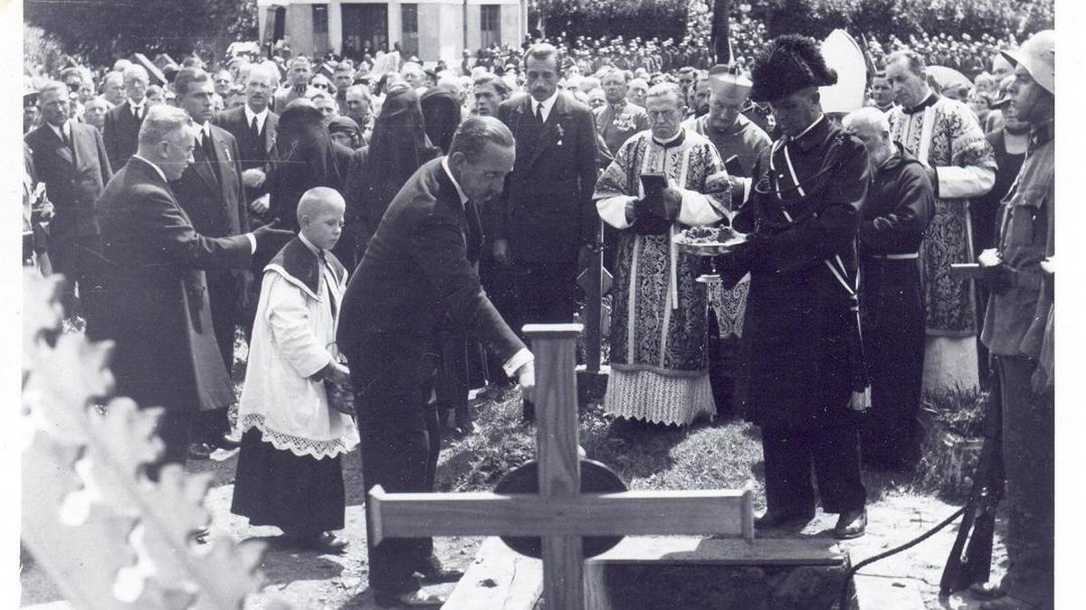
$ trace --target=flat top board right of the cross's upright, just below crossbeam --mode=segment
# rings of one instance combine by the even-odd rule
[[[628,537],[586,560],[594,563],[703,563],[716,565],[837,565],[847,554],[830,538],[721,539]]]

